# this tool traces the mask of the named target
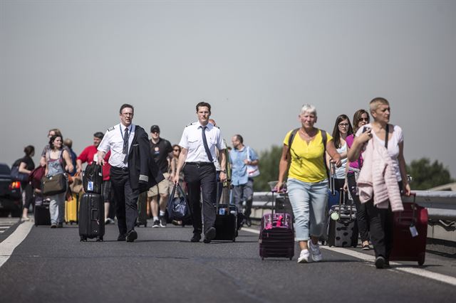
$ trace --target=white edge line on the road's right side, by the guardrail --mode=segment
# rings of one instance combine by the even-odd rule
[[[249,233],[256,233],[257,235],[259,235],[259,230],[255,230],[253,228],[242,228],[242,230],[248,231]],[[331,250],[333,252],[338,252],[338,253],[341,253],[344,255],[349,255],[351,257],[356,257],[363,261],[372,263],[372,265],[374,262],[373,256],[366,255],[362,252],[356,252],[353,250],[348,250],[346,248],[330,248],[328,246],[324,246],[324,247],[321,246],[320,248],[323,250]],[[437,272],[430,272],[428,270],[424,270],[423,268],[417,268],[417,267],[412,267],[412,266],[404,267],[405,266],[404,264],[397,263],[397,262],[390,262],[390,265],[393,265],[393,266],[400,265],[401,267],[391,267],[389,270],[395,270],[398,272],[408,272],[409,274],[412,274],[412,275],[418,275],[420,277],[425,277],[427,279],[436,280],[439,282],[443,282],[443,283],[447,283],[447,284],[456,286],[456,277],[442,275]]]

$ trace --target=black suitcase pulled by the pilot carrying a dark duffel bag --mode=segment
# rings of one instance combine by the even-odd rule
[[[229,191],[229,186],[223,188],[224,191]],[[218,195],[217,195],[218,196]],[[222,204],[217,201],[215,203],[215,230],[217,233],[214,240],[229,240],[236,241],[237,237],[237,206],[229,204],[229,196],[226,193],[222,194]]]

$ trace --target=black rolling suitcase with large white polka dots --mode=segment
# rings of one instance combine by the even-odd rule
[[[341,188],[341,192],[343,189]],[[358,245],[358,225],[356,225],[356,208],[347,205],[345,195],[341,194],[338,205],[331,206],[329,211],[328,245],[338,248]]]

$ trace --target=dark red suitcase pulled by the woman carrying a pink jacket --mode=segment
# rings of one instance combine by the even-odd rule
[[[403,201],[404,211],[394,213],[393,251],[390,260],[417,261],[418,265],[423,265],[426,254],[427,209],[415,203],[415,193],[412,193],[412,196],[413,202]]]

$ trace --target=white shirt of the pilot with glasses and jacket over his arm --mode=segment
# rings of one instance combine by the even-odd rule
[[[98,151],[104,151],[105,153],[111,151],[111,156],[109,157],[109,164],[111,166],[119,168],[128,167],[128,162],[123,163],[123,159],[125,159],[125,154],[123,153],[123,135],[125,134],[125,128],[125,125],[122,123],[108,128],[108,131],[105,133],[103,139],[100,142],[100,145],[98,145]],[[130,124],[128,127],[129,151],[131,149],[133,137],[135,137],[135,128],[135,124]]]

